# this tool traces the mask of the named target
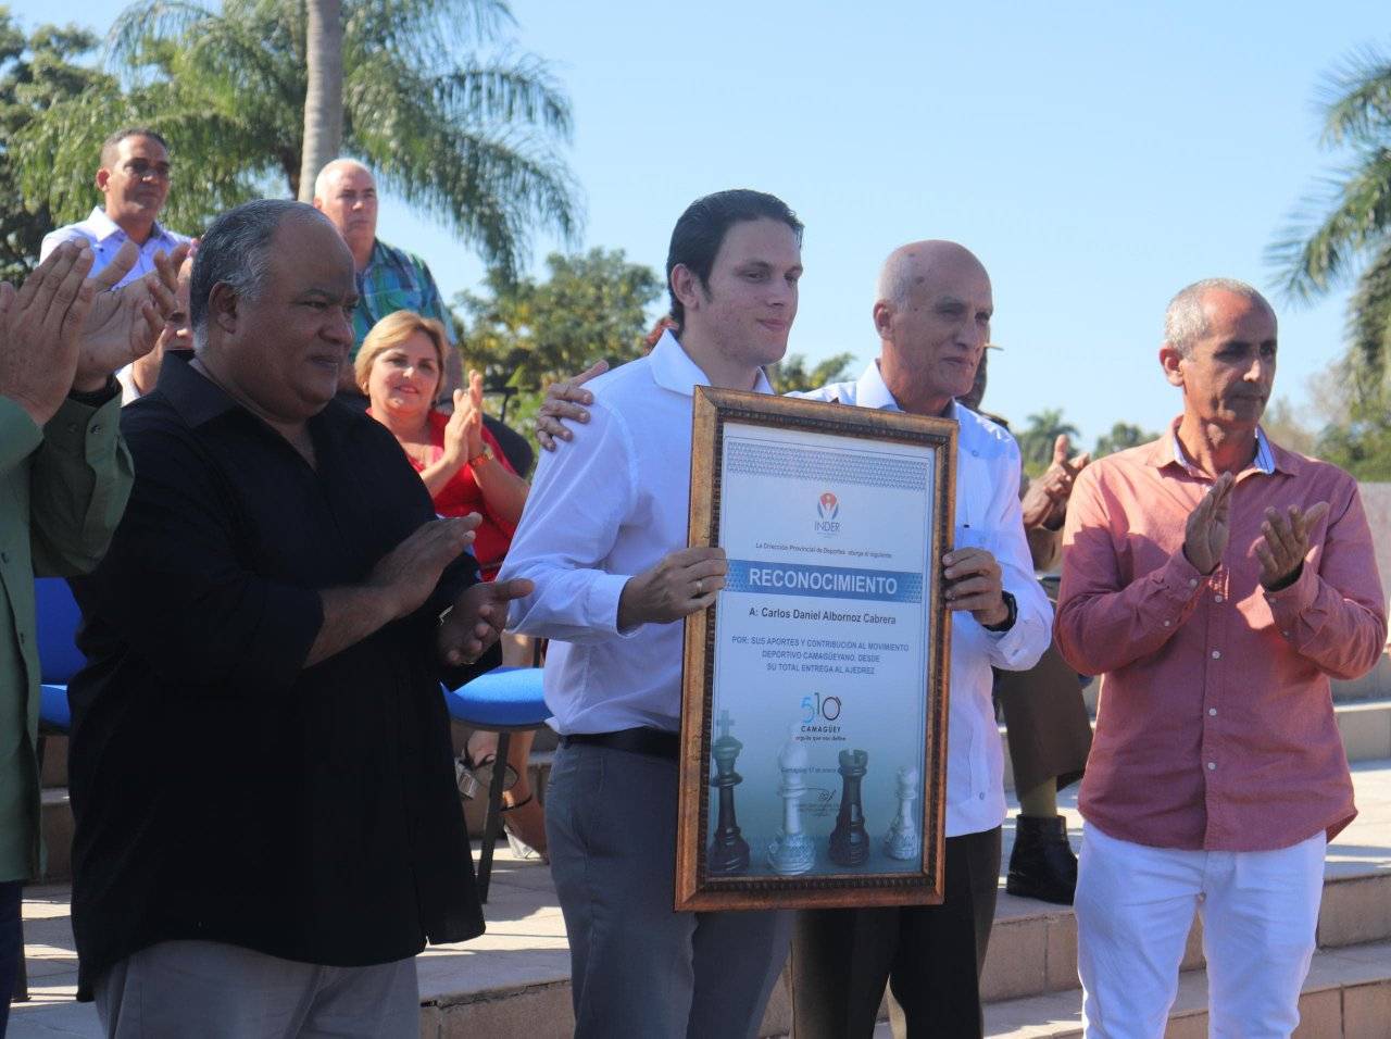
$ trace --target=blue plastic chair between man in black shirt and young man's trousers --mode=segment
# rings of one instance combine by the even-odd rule
[[[541,690],[541,668],[497,668],[456,690],[444,690],[449,716],[473,729],[498,733],[497,765],[488,784],[488,810],[479,854],[479,897],[488,900],[492,850],[502,832],[502,784],[506,782],[512,733],[540,729],[551,712]]]

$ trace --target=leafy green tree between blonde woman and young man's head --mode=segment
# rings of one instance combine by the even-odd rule
[[[508,424],[520,428],[530,427],[548,382],[601,357],[613,366],[643,356],[647,307],[662,292],[657,273],[629,263],[622,249],[552,253],[545,264],[545,281],[494,271],[487,295],[453,300],[465,314],[465,367],[483,371],[484,385],[517,391]]]

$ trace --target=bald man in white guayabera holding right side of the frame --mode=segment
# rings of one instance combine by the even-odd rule
[[[978,978],[995,918],[1004,819],[990,668],[1032,668],[1053,620],[1024,534],[1018,446],[954,399],[971,389],[993,310],[990,278],[968,249],[940,241],[906,245],[886,260],[875,293],[879,357],[854,382],[794,394],[960,424],[956,547],[943,563],[954,611],[946,901],[800,912],[791,957],[797,1039],[867,1039],[886,983],[897,999],[900,1035],[979,1036],[983,1029]],[[542,446],[570,438],[558,417],[586,421],[583,378],[552,388],[537,424]]]

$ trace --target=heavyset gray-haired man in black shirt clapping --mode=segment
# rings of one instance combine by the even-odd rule
[[[79,997],[113,1036],[417,1035],[412,957],[483,931],[438,683],[494,666],[530,586],[479,583],[477,517],[332,402],[353,302],[321,214],[241,206],[195,355],[122,417],[71,687]]]

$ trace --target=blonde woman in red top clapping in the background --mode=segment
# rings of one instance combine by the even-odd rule
[[[483,376],[470,371],[467,392],[453,391],[453,414],[434,409],[447,349],[444,325],[413,310],[398,310],[367,332],[355,374],[371,402],[367,414],[395,435],[430,491],[435,512],[441,516],[477,512],[483,517],[473,552],[484,580],[492,580],[522,519],[527,483],[483,424]],[[491,764],[495,754],[492,733],[469,737],[470,769]],[[506,816],[508,829],[544,854],[545,823],[527,783],[530,754],[531,733],[516,733],[508,754],[508,768],[516,779],[504,793],[504,811],[515,810]]]

